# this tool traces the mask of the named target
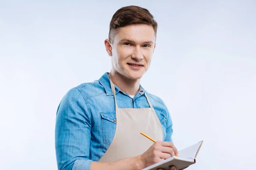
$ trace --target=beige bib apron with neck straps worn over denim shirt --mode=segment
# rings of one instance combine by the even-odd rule
[[[117,161],[144,153],[154,142],[140,132],[156,141],[163,141],[162,125],[146,93],[150,108],[118,108],[115,86],[111,79],[110,82],[116,105],[116,132],[100,162]]]

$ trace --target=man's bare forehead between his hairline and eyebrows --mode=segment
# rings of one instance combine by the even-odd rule
[[[155,42],[156,35],[152,26],[147,24],[131,24],[120,27],[116,31],[115,42],[122,39],[132,40],[134,42]]]

